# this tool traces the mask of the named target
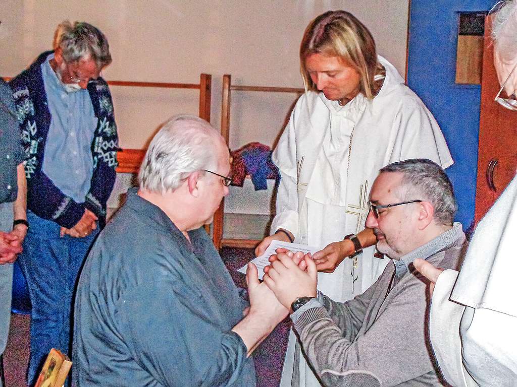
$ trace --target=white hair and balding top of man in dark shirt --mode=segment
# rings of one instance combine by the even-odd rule
[[[205,120],[178,115],[166,121],[153,137],[138,180],[146,191],[175,190],[195,171],[217,167],[217,141],[221,135]]]

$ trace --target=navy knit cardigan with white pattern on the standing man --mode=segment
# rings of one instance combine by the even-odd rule
[[[84,203],[77,203],[56,187],[41,170],[51,121],[41,63],[51,53],[49,51],[41,54],[31,67],[9,83],[16,103],[27,159],[27,208],[40,218],[51,219],[66,228],[73,227],[81,219],[84,209],[88,208],[97,215],[102,227],[106,218],[106,202],[115,183],[117,167],[117,127],[110,90],[102,78],[88,84],[88,93],[98,119],[91,147],[94,170]],[[67,158],[71,155],[64,154],[62,157],[59,162],[66,168]]]

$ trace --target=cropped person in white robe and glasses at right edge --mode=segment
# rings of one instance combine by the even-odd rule
[[[503,95],[514,98],[515,0],[504,2],[493,20],[495,69]],[[513,98],[502,105],[516,110]],[[455,387],[517,385],[516,235],[517,177],[479,222],[459,273],[415,261],[415,267],[436,283],[429,335],[438,365]]]

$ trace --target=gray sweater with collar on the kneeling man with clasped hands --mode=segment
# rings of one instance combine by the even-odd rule
[[[455,234],[452,241],[451,233]],[[449,238],[444,238],[445,234]],[[438,245],[433,250],[439,251],[420,257],[444,269],[459,268],[467,246],[461,226],[429,244]],[[429,252],[425,249],[429,244],[415,252]],[[363,294],[344,303],[324,296],[323,306],[310,308],[296,319],[294,329],[303,352],[323,385],[448,385],[440,380],[430,355],[429,281],[409,266],[390,290],[394,273],[395,266],[390,262]]]

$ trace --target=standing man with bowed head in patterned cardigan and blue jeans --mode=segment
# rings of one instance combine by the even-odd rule
[[[20,265],[33,305],[29,384],[52,347],[69,350],[73,288],[105,222],[117,166],[113,104],[100,77],[111,63],[106,37],[66,21],[53,47],[10,82],[27,157],[31,228]]]

